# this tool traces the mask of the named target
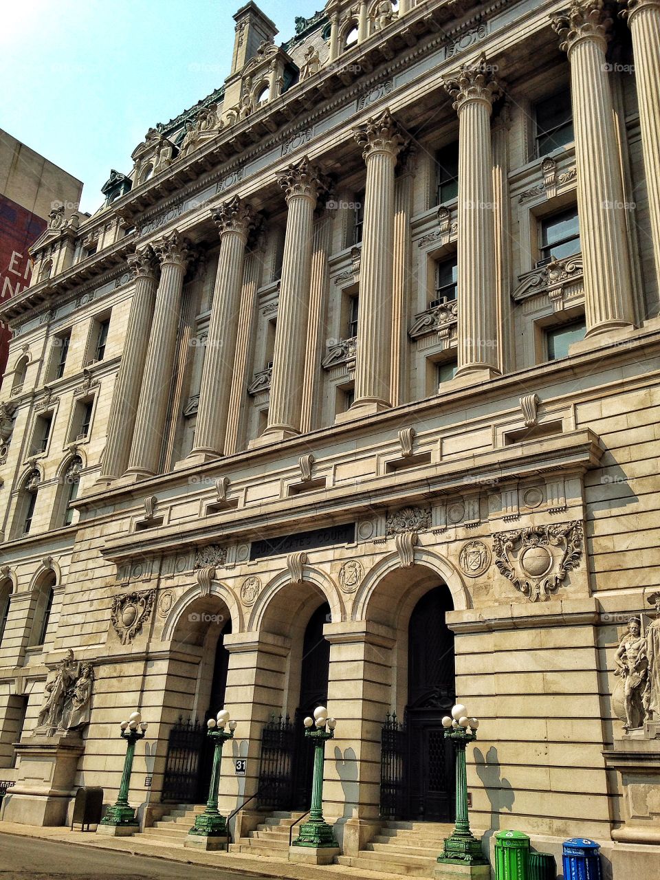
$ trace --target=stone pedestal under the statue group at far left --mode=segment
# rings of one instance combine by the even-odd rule
[[[3,803],[6,822],[20,825],[66,825],[78,759],[84,752],[79,733],[33,737],[16,746],[18,776]]]

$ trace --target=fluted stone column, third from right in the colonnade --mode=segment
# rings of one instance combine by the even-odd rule
[[[481,381],[499,372],[495,212],[490,114],[501,93],[486,56],[444,87],[458,112],[458,370]]]

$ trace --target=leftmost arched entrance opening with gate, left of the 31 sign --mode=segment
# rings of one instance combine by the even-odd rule
[[[208,796],[213,744],[206,736],[206,722],[224,708],[229,668],[224,640],[229,634],[229,611],[213,596],[188,605],[172,634],[172,646],[183,649],[189,661],[187,684],[182,686],[177,677],[180,714],[167,740],[163,801],[203,803]]]

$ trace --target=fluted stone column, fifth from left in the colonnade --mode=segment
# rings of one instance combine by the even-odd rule
[[[404,143],[389,110],[354,131],[367,165],[357,318],[356,400],[350,412],[392,406],[394,166]],[[357,410],[357,413],[355,412]]]

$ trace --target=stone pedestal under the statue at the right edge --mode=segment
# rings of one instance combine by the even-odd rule
[[[631,730],[603,755],[605,766],[621,774],[623,789],[624,824],[612,831],[612,840],[660,844],[660,724]]]

